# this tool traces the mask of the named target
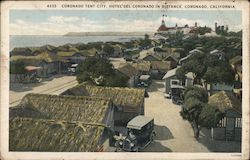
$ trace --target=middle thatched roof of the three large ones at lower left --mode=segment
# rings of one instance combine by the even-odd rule
[[[107,98],[28,94],[18,106],[10,109],[10,118],[39,117],[102,123],[110,104]]]

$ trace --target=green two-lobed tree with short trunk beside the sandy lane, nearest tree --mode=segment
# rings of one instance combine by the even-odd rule
[[[214,127],[222,118],[219,109],[207,102],[208,94],[201,87],[193,86],[184,92],[184,105],[180,114],[192,124],[195,138],[199,137],[202,127]]]

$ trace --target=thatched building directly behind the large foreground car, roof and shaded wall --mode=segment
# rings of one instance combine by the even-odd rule
[[[111,99],[115,106],[115,131],[119,132],[124,132],[124,128],[131,119],[138,115],[144,115],[145,89],[79,84],[76,87],[66,90],[62,95]]]

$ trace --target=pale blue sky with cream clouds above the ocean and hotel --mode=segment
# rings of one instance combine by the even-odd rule
[[[10,35],[64,35],[68,32],[155,32],[162,15],[166,26],[228,25],[242,28],[241,11],[208,10],[11,10]]]

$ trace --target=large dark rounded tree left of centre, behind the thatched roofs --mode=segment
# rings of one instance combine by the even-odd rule
[[[126,86],[128,80],[104,58],[87,58],[79,64],[76,74],[79,83],[90,82],[99,86],[122,87]]]

